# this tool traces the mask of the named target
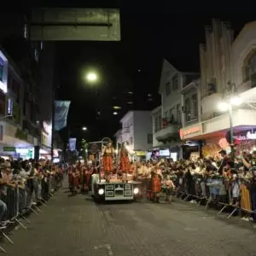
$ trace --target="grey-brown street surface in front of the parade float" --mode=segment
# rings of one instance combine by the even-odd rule
[[[17,256],[256,255],[256,230],[189,203],[96,205],[85,195],[57,192],[30,217],[27,230],[1,242]]]

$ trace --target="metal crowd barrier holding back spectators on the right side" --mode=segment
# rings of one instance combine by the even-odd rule
[[[183,184],[177,184],[177,197],[183,201],[195,200],[197,207],[205,202],[205,209],[215,206],[218,208],[218,215],[230,208],[227,218],[232,217],[235,212],[246,212],[256,219],[256,201],[255,195],[253,196],[256,190],[252,192],[251,184],[241,177],[236,177],[233,181],[222,176],[193,178],[190,182],[183,178]]]

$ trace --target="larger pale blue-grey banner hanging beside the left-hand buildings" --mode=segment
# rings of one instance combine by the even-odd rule
[[[67,113],[70,102],[55,101],[55,131],[60,131],[67,126]]]

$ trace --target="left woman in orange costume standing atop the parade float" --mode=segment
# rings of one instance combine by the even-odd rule
[[[109,182],[109,175],[113,172],[114,149],[112,142],[102,148],[102,167],[106,182]]]

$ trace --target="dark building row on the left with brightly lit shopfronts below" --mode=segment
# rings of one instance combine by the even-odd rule
[[[9,152],[2,150],[2,154],[21,155],[22,158],[49,158],[52,139],[52,103],[49,102],[52,102],[53,90],[52,83],[45,79],[49,78],[49,73],[45,74],[42,68],[45,67],[42,65],[44,44],[29,40],[29,26],[23,15],[8,13],[0,20],[3,21],[0,26],[0,42],[5,55],[8,55],[4,69],[1,68],[3,61],[0,61],[0,74],[4,70],[3,80],[8,89],[4,94],[1,88],[3,82],[0,84],[0,104],[2,112],[9,115],[8,119],[2,119],[3,126],[6,126],[3,129],[2,144]],[[16,139],[20,139],[20,143]]]

